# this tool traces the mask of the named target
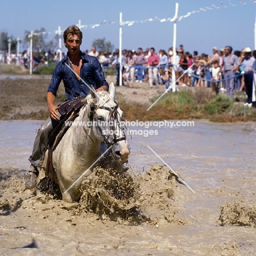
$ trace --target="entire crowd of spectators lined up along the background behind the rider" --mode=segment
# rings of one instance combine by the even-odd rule
[[[120,74],[120,55],[119,50],[113,54],[107,51],[98,52],[95,47],[91,51],[84,53],[97,57],[100,61],[105,77],[108,75],[109,68],[115,69],[116,86],[119,86],[120,75],[123,84],[133,87],[134,83],[148,81],[149,88],[159,88],[160,85],[170,85],[172,83],[172,73],[175,73],[180,86],[212,87],[219,94],[219,91],[226,91],[230,97],[234,91],[246,91],[248,100],[246,105],[252,106],[255,101],[253,95],[253,72],[256,70],[256,51],[248,47],[240,51],[234,51],[232,47],[226,46],[223,49],[213,47],[212,54],[198,55],[198,51],[185,51],[183,45],[176,49],[176,59],[173,60],[173,48],[168,52],[160,49],[156,53],[154,48],[142,48],[135,50],[122,50],[122,72]],[[62,57],[65,53],[62,53]],[[43,52],[37,49],[33,53],[33,68],[40,64],[59,61],[59,53],[48,50]],[[8,56],[4,51],[3,63],[17,63],[29,68],[30,56],[25,50],[22,56],[11,54]],[[166,86],[167,88],[167,86]]]

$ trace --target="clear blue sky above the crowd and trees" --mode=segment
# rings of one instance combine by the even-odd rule
[[[84,39],[81,49],[90,50],[92,42],[103,37],[119,48],[120,12],[123,13],[123,21],[172,18],[176,2],[179,3],[178,16],[200,11],[200,8],[206,10],[177,21],[177,45],[183,44],[186,51],[197,50],[211,55],[213,46],[220,49],[231,45],[234,50],[247,46],[254,48],[256,3],[251,3],[254,2],[252,0],[0,0],[0,31],[15,38],[24,38],[25,30],[44,27],[51,32],[48,35],[51,39],[58,26],[65,29],[78,24],[79,19],[82,25],[115,21],[116,24],[100,25],[94,29],[82,28]],[[236,6],[232,7],[231,4]],[[172,46],[172,41],[173,22],[155,20],[123,26],[123,49],[154,47],[157,51],[167,50]]]

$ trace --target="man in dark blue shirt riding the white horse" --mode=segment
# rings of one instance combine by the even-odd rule
[[[38,168],[42,167],[48,136],[60,122],[59,107],[55,106],[54,102],[61,80],[65,86],[67,101],[78,96],[88,96],[90,94],[88,85],[92,85],[96,91],[108,91],[109,85],[103,75],[100,62],[96,57],[80,51],[82,38],[83,33],[74,25],[69,26],[63,33],[64,44],[68,53],[57,64],[51,78],[47,92],[50,117],[38,130],[32,155],[28,158],[31,166],[25,179],[26,189],[32,189],[36,186]]]

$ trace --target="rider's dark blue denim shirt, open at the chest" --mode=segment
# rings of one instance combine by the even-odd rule
[[[88,54],[82,53],[82,67],[80,69],[80,77],[82,79],[78,80],[74,72],[72,71],[72,65],[68,60],[68,55],[65,55],[63,59],[57,64],[54,69],[53,77],[51,78],[51,83],[49,85],[48,91],[52,92],[55,96],[57,90],[63,80],[66,91],[66,100],[71,100],[77,96],[87,96],[90,94],[90,89],[88,86],[94,86],[95,89],[100,88],[101,85],[108,86],[108,83],[103,75],[102,67],[100,62],[96,57],[90,56]],[[67,65],[69,67],[67,67]],[[88,85],[85,85],[85,83]]]

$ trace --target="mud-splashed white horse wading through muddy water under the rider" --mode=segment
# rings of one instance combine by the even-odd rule
[[[87,103],[80,109],[79,116],[73,120],[73,125],[53,151],[53,167],[57,176],[55,182],[59,184],[63,201],[73,202],[79,199],[82,195],[80,188],[86,178],[83,173],[88,168],[90,169],[86,176],[91,173],[96,165],[95,161],[106,149],[109,149],[114,160],[120,165],[128,160],[130,149],[120,124],[123,111],[114,98],[113,83],[109,86],[109,92],[100,91],[96,95],[91,90],[91,94],[85,98]],[[102,125],[98,126],[99,123]],[[102,147],[102,142],[107,146]],[[45,163],[46,157],[44,166]],[[44,176],[43,170],[39,179]]]

